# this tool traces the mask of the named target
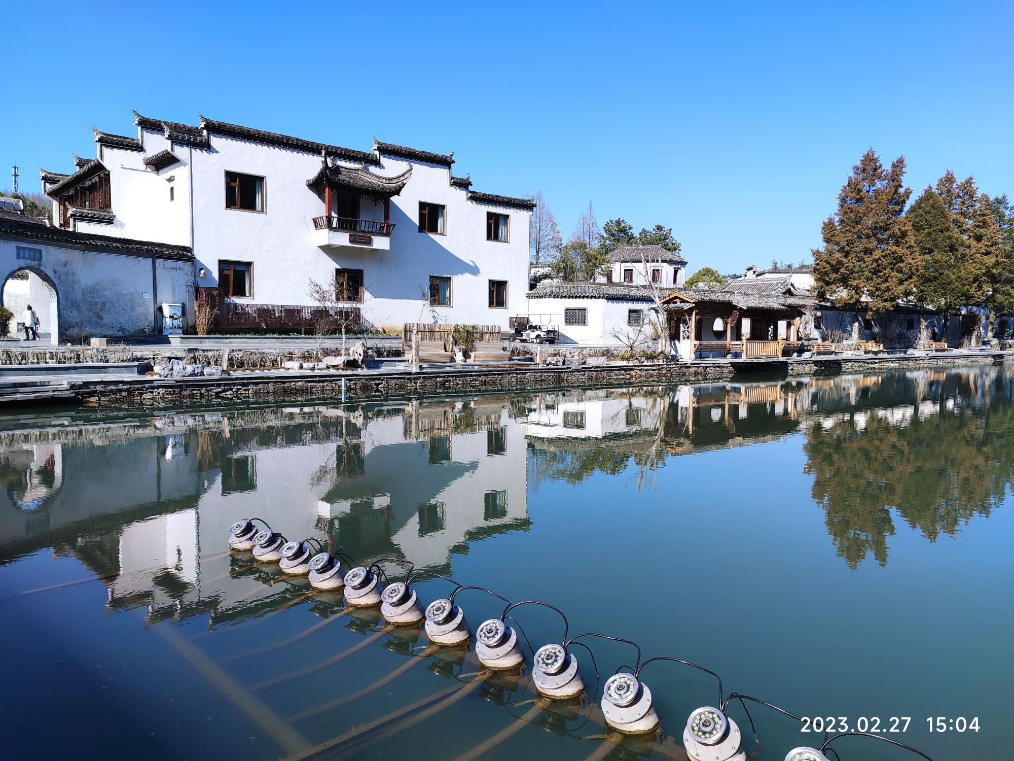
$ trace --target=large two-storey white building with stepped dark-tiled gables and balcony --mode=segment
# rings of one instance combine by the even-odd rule
[[[95,130],[96,156],[42,170],[62,229],[186,246],[223,327],[307,321],[307,280],[337,273],[350,309],[406,322],[500,325],[528,290],[531,199],[479,193],[453,153],[370,150],[218,122],[142,117]],[[193,309],[188,305],[188,322]]]

